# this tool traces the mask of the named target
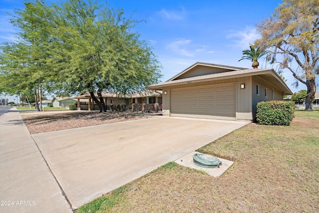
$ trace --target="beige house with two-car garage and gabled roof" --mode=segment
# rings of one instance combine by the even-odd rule
[[[163,115],[234,121],[254,120],[258,102],[292,94],[273,69],[202,62],[147,89],[162,90]]]

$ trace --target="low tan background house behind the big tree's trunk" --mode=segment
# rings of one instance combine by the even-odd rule
[[[94,95],[98,98],[97,93],[95,93]],[[134,94],[125,95],[123,97],[119,96],[115,92],[103,91],[102,97],[107,106],[111,104],[132,105],[132,103],[161,104],[161,91],[157,92],[153,90],[136,92]],[[72,98],[74,100],[78,100],[77,103],[80,106],[81,110],[99,109],[98,105],[94,103],[90,93],[88,92],[82,92],[80,95]],[[89,105],[89,103],[91,103],[91,105]]]

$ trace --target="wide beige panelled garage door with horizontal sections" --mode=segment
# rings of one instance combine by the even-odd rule
[[[171,116],[235,120],[235,84],[172,90]]]

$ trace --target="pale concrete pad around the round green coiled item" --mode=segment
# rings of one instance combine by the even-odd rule
[[[220,177],[222,174],[224,174],[233,164],[234,162],[228,161],[226,159],[218,158],[221,161],[221,165],[216,168],[205,168],[200,167],[194,164],[193,162],[193,155],[199,152],[191,152],[175,161],[175,163],[182,165],[184,167],[189,167],[196,170],[201,170],[204,172],[207,172],[208,175],[213,176],[215,178]]]

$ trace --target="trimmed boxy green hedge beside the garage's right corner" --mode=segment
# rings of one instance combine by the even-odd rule
[[[262,101],[257,104],[256,120],[262,125],[287,125],[294,118],[292,101]]]

